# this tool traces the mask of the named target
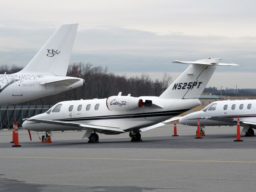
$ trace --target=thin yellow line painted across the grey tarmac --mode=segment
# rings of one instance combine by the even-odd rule
[[[172,160],[172,159],[133,159],[133,158],[96,158],[96,157],[22,157],[0,156],[0,158],[23,158],[23,159],[85,159],[85,160],[131,160],[131,161],[162,161],[162,162],[213,162],[213,163],[253,163],[256,161],[221,161],[221,160]]]

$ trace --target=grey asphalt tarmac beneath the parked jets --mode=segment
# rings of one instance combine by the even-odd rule
[[[202,139],[195,127],[177,130],[178,137],[173,125],[143,132],[142,142],[99,134],[99,143],[81,140],[84,132],[55,132],[51,144],[19,130],[19,148],[11,131],[0,131],[0,191],[255,191],[256,137],[234,142],[236,127],[206,128]]]

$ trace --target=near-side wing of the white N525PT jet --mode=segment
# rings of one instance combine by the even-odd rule
[[[85,123],[76,123],[76,122],[65,122],[65,121],[55,121],[55,120],[42,120],[42,119],[26,119],[27,121],[38,122],[38,123],[46,123],[46,124],[54,124],[54,125],[62,125],[62,126],[70,126],[78,129],[100,129],[100,130],[109,130],[109,131],[117,131],[117,132],[125,132],[124,130],[116,127],[106,127],[106,126],[98,126],[92,124]]]

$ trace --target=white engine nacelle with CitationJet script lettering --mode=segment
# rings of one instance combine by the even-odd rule
[[[132,111],[142,107],[143,101],[131,96],[111,96],[107,98],[107,107],[110,111]]]

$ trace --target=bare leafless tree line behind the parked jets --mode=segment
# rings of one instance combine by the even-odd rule
[[[0,73],[12,74],[22,67],[0,66]],[[18,105],[50,105],[65,100],[107,98],[109,96],[131,94],[131,96],[160,96],[172,82],[170,74],[164,73],[162,79],[152,80],[148,74],[127,77],[108,72],[108,67],[93,66],[90,63],[77,62],[68,66],[67,76],[85,79],[86,85],[53,96],[47,96]]]

